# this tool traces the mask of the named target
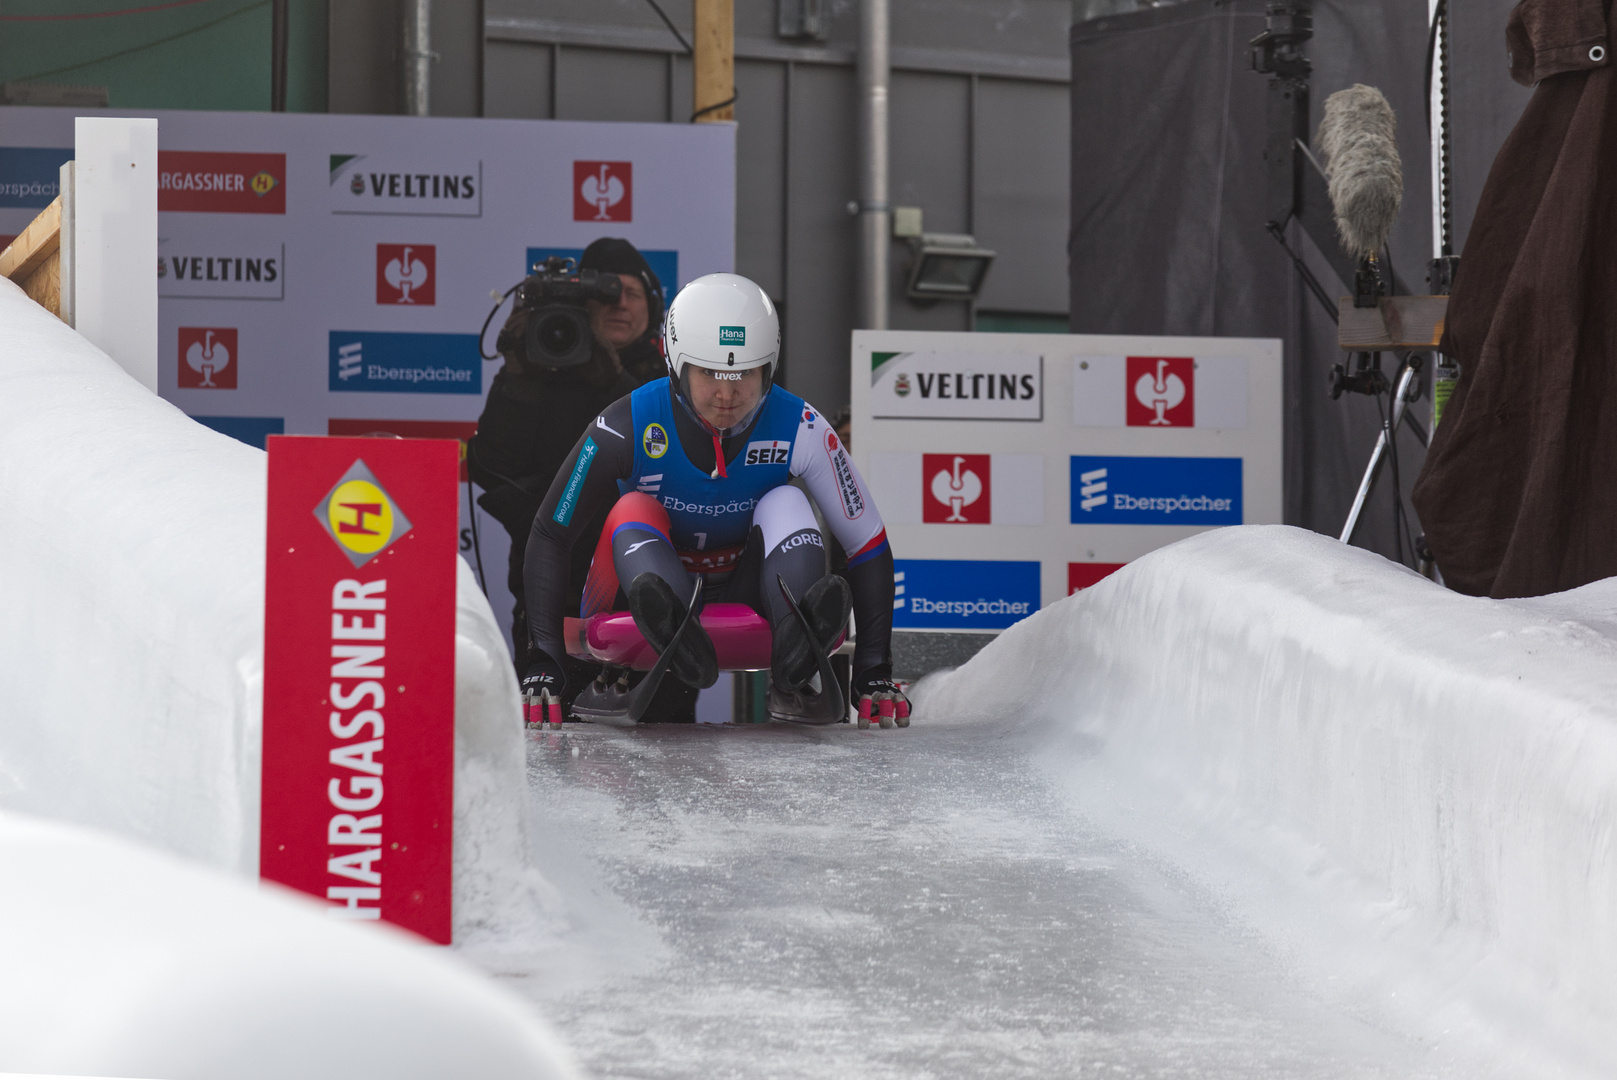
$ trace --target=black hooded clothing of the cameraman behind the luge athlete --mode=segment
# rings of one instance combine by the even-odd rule
[[[517,674],[527,669],[530,648],[522,559],[538,504],[561,462],[602,409],[648,378],[665,373],[661,352],[655,344],[663,319],[663,289],[640,252],[629,241],[602,238],[584,251],[579,268],[616,273],[623,285],[614,304],[585,301],[593,331],[589,361],[559,369],[534,362],[524,344],[529,309],[514,306],[496,344],[505,365],[495,373],[483,414],[477,420],[477,433],[467,446],[467,469],[483,488],[477,501],[511,534],[506,585],[516,598],[511,640],[516,645]],[[598,517],[600,521],[590,522],[592,537],[600,532],[606,511]],[[582,600],[592,551],[593,542],[579,545],[572,559],[568,584],[572,611],[577,611]],[[593,677],[593,668],[571,658],[568,664],[579,666],[577,681],[572,679],[572,671],[568,673],[574,686],[585,686]]]

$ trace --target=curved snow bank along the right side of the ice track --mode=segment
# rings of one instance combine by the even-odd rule
[[[1289,837],[1287,871],[1350,881],[1405,951],[1368,981],[1450,962],[1434,1012],[1502,1002],[1580,1054],[1617,1015],[1617,579],[1476,600],[1315,534],[1224,529],[918,695],[923,719],[1038,718],[1036,755],[1122,816],[1271,855]]]

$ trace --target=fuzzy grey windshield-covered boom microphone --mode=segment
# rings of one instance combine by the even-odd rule
[[[1342,247],[1374,259],[1387,243],[1404,202],[1397,116],[1373,86],[1353,84],[1324,99],[1318,144]]]

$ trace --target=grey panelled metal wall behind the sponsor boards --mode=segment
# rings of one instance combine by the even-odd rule
[[[482,8],[480,11],[477,8]],[[736,0],[736,268],[781,304],[787,385],[847,403],[854,327],[854,0],[826,40],[776,34],[776,0]],[[396,0],[331,10],[331,112],[395,112]],[[663,0],[690,36],[690,0]],[[1067,310],[1067,0],[893,0],[893,200],[927,231],[998,252],[978,307]],[[690,61],[645,0],[440,0],[435,115],[682,123]],[[967,330],[964,304],[902,299],[897,328]]]

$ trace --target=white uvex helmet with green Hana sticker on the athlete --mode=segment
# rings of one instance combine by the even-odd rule
[[[762,367],[768,394],[781,356],[781,319],[757,283],[737,273],[710,273],[679,289],[668,306],[663,356],[686,403],[690,365],[733,372]]]

